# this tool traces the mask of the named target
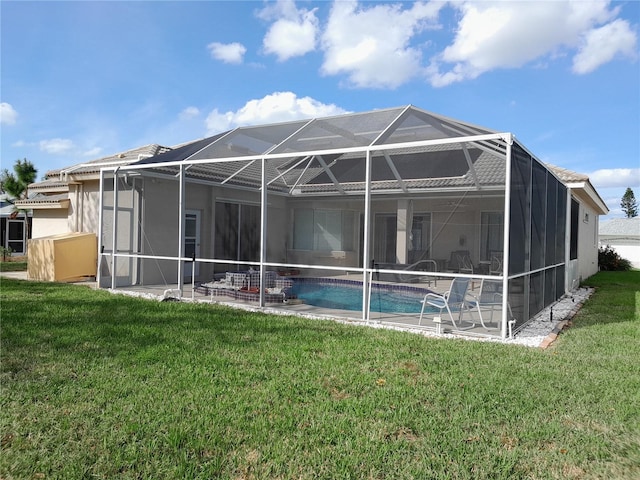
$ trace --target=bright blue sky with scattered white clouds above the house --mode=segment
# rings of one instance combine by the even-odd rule
[[[2,168],[413,104],[640,199],[640,2],[3,0]]]

